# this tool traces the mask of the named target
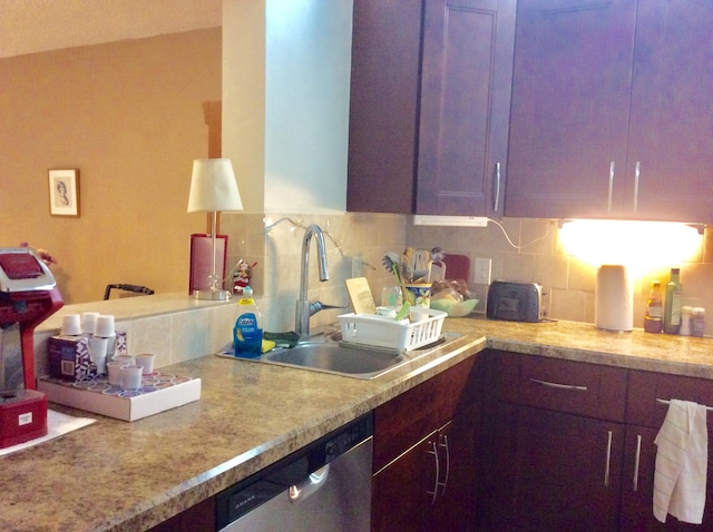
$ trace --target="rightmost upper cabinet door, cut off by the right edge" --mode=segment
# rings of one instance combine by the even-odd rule
[[[713,221],[713,3],[639,1],[627,197],[638,217]]]

